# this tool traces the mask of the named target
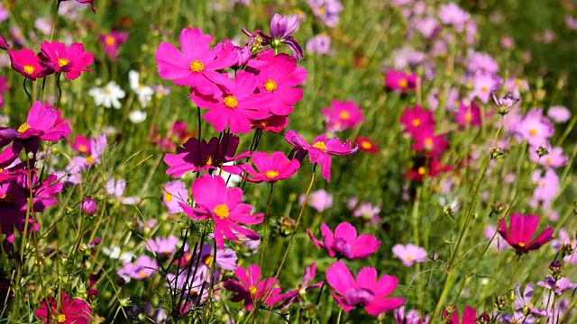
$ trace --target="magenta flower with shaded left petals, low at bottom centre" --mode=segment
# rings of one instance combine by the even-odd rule
[[[251,265],[244,270],[242,266],[238,266],[234,270],[234,275],[238,281],[228,279],[224,283],[224,288],[233,293],[236,293],[232,301],[244,301],[244,307],[247,311],[252,311],[252,308],[260,303],[274,306],[282,297],[280,296],[279,281],[272,278],[261,279],[261,268],[256,265]]]

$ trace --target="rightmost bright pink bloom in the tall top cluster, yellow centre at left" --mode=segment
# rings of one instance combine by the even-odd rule
[[[259,72],[258,89],[262,94],[270,94],[270,112],[289,115],[293,105],[303,98],[303,89],[296,86],[307,80],[307,70],[297,66],[297,58],[282,53],[274,55],[272,49],[261,52],[258,59],[269,63]]]

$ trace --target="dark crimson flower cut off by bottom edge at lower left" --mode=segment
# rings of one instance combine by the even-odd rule
[[[64,292],[60,293],[60,302],[52,296],[42,299],[40,308],[34,311],[34,314],[44,323],[87,324],[93,322],[88,303],[78,298],[72,299],[68,293]]]

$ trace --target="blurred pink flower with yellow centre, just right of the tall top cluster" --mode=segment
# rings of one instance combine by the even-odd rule
[[[328,130],[353,129],[364,121],[361,107],[353,101],[333,100],[330,108],[323,108],[323,114]]]

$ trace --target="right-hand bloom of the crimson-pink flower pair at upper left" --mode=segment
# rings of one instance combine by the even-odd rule
[[[80,73],[91,71],[87,68],[94,62],[94,55],[84,51],[84,45],[74,43],[69,48],[60,41],[44,41],[39,54],[40,64],[54,72],[64,72],[70,80],[76,79]]]

